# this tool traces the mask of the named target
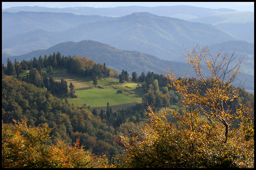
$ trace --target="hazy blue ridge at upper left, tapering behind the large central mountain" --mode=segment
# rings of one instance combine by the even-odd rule
[[[61,32],[80,24],[113,20],[111,17],[99,15],[75,15],[71,13],[49,12],[2,12],[2,39],[27,33],[33,30]]]

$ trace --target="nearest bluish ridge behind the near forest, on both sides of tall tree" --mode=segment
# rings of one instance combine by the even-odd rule
[[[233,85],[239,86],[239,82],[246,78],[247,82],[244,85],[245,89],[254,90],[254,74],[251,74],[252,70],[254,71],[254,57],[252,57],[254,56],[253,44],[244,41],[230,41],[222,44],[215,44],[209,48],[212,50],[212,53],[225,49],[227,49],[228,53],[232,53],[234,50],[233,47],[240,47],[241,49],[237,48],[237,50],[241,51],[241,53],[239,53],[239,57],[244,57],[244,63],[250,63],[250,65],[242,65],[244,71],[238,75],[237,81],[235,81]],[[170,69],[172,72],[176,73],[177,76],[184,76],[185,73],[189,73],[190,76],[195,77],[194,72],[187,63],[162,60],[139,51],[120,50],[115,47],[111,47],[110,45],[91,40],[64,42],[54,45],[46,50],[35,50],[31,53],[20,56],[9,57],[9,59],[11,61],[14,61],[15,59],[17,59],[17,61],[21,61],[23,59],[30,60],[33,57],[38,59],[40,55],[44,57],[45,55],[48,56],[49,54],[53,54],[54,52],[56,53],[57,51],[64,56],[87,56],[89,59],[93,59],[96,63],[105,62],[107,66],[115,69],[119,73],[122,72],[122,69],[125,69],[130,75],[134,71],[137,72],[137,75],[140,75],[142,71],[145,74],[148,71],[158,74],[166,74],[167,69]],[[184,58],[183,60],[185,61]],[[3,63],[6,63],[6,61],[7,58],[2,58]],[[248,72],[246,72],[245,69],[247,69]]]

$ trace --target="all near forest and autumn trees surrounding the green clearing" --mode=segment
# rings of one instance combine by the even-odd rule
[[[193,52],[195,59],[188,59],[191,65],[201,60],[197,60],[196,53]],[[202,54],[209,55],[209,51]],[[227,78],[227,83],[215,83],[216,74],[204,79],[200,67],[194,70],[199,73],[197,79],[177,78],[170,71],[167,75],[133,72],[129,78],[123,70],[119,83],[141,84],[138,88],[145,90],[142,104],[133,110],[113,112],[107,103],[107,109],[99,112],[90,110],[87,104],[75,107],[59,99],[59,92],[70,93],[71,97],[75,92],[71,83],[67,92],[65,80],[51,79],[52,65],[66,68],[78,77],[88,76],[93,83],[94,78],[110,76],[109,71],[104,71],[108,67],[86,57],[60,56],[58,52],[44,59],[8,61],[7,67],[2,66],[2,167],[254,166],[254,95],[230,84],[239,73],[239,63],[233,74],[219,75],[222,80]],[[224,68],[215,65],[216,60],[209,62],[211,72],[228,68],[232,60],[227,59],[226,64],[226,57],[222,59],[219,65]],[[219,108],[215,102],[221,100],[224,106]],[[146,109],[147,105],[151,106]],[[199,115],[197,106],[202,109]],[[218,114],[209,113],[211,107]],[[212,116],[207,118],[208,114]],[[226,133],[224,125],[229,126]],[[200,149],[202,146],[205,149]]]

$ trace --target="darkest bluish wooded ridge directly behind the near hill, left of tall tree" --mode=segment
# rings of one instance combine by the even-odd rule
[[[120,50],[115,47],[111,47],[108,44],[103,44],[97,41],[80,41],[80,42],[64,42],[46,50],[36,50],[28,54],[21,56],[9,57],[10,60],[17,61],[30,60],[33,57],[45,56],[49,54],[61,51],[61,56],[76,55],[79,57],[88,57],[93,59],[96,63],[106,63],[110,68],[115,69],[118,72],[122,72],[122,69],[128,71],[131,75],[133,71],[141,74],[143,71],[152,71],[158,74],[166,72],[167,68],[172,69],[174,72],[180,72],[184,75],[184,72],[189,72],[185,63],[170,62],[166,60],[158,59],[155,56],[141,53],[139,51],[126,51]],[[2,59],[3,63],[6,63],[7,58]]]

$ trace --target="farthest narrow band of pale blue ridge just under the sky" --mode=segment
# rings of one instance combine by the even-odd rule
[[[84,15],[101,15],[101,16],[125,16],[134,12],[149,12],[151,14],[175,17],[177,14],[183,15],[181,19],[192,19],[197,17],[206,17],[218,12],[234,12],[233,9],[210,9],[203,7],[177,5],[177,6],[117,6],[115,8],[93,8],[93,7],[76,7],[76,8],[47,8],[39,6],[21,6],[3,9],[2,12],[19,12],[19,11],[33,11],[33,12],[64,12]],[[181,15],[180,15],[181,16]]]

